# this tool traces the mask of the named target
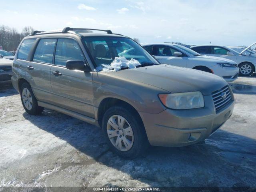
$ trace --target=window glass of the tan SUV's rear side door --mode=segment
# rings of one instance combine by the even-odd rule
[[[56,39],[41,39],[37,45],[33,61],[52,63]]]

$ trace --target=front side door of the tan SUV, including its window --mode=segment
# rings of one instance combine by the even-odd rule
[[[50,72],[52,103],[94,118],[92,74],[67,69],[67,60],[85,61],[85,57],[75,39],[58,38]]]

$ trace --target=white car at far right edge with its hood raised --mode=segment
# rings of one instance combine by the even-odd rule
[[[250,45],[240,53],[227,46],[220,45],[196,45],[190,48],[200,54],[233,60],[238,64],[240,74],[250,76],[256,70],[256,57],[252,56],[252,54],[246,55],[245,52],[249,48],[253,49],[255,45],[256,43]]]

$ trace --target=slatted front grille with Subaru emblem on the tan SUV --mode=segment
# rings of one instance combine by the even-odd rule
[[[214,102],[216,113],[220,112],[222,108],[224,108],[227,104],[229,104],[232,101],[228,85],[224,86],[220,90],[212,92],[212,99]]]

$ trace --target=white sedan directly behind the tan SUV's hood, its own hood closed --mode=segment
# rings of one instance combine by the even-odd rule
[[[203,56],[184,46],[170,43],[146,44],[143,47],[163,64],[214,73],[227,82],[238,78],[239,68],[236,62],[228,59]]]

